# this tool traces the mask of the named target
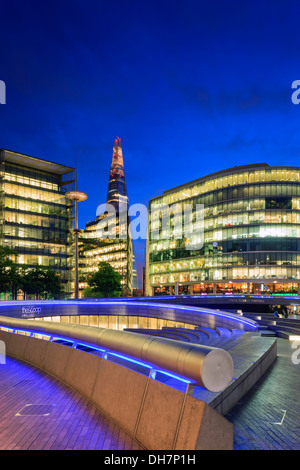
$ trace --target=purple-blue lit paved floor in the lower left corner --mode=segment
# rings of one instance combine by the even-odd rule
[[[7,357],[0,364],[0,450],[142,448],[80,394]]]

